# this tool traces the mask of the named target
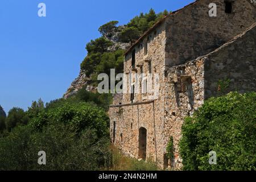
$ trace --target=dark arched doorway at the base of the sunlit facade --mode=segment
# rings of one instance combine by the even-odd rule
[[[139,159],[146,160],[147,151],[147,130],[144,127],[139,129]]]

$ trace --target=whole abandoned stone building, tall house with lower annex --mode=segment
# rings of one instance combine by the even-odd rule
[[[217,5],[217,16],[209,16],[210,3]],[[159,20],[142,35],[125,53],[123,74],[158,73],[159,94],[115,94],[109,110],[114,145],[131,158],[180,169],[184,117],[216,96],[217,82],[229,78],[227,92],[256,90],[255,18],[251,1],[200,0]],[[143,81],[141,77],[139,89]],[[174,159],[168,161],[170,137]]]

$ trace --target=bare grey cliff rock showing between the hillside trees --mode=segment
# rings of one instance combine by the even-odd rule
[[[114,28],[112,32],[103,35],[106,39],[110,40],[113,43],[113,46],[109,47],[109,51],[115,51],[117,49],[127,49],[130,46],[130,43],[119,42],[118,36],[123,30],[124,26],[119,26]],[[69,86],[67,92],[64,94],[63,98],[68,98],[76,94],[82,87],[86,87],[87,91],[96,92],[96,87],[90,85],[92,79],[85,75],[85,72],[80,69],[79,76]]]

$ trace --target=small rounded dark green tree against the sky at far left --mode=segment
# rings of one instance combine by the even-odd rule
[[[6,118],[6,129],[11,131],[16,125],[26,125],[28,122],[28,116],[23,109],[19,107],[13,107],[8,113]]]

